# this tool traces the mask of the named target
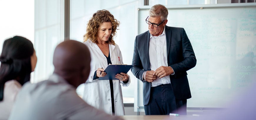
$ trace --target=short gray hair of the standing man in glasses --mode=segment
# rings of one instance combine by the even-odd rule
[[[149,17],[154,18],[157,16],[160,16],[162,21],[166,20],[167,16],[168,16],[168,9],[164,5],[161,5],[161,4],[156,4],[156,5],[152,6],[149,9]]]

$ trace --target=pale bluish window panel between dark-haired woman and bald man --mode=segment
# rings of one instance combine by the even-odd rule
[[[35,82],[46,80],[54,70],[53,52],[64,41],[64,0],[35,0]]]

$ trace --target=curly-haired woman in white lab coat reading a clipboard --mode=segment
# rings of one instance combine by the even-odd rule
[[[113,37],[119,26],[114,16],[107,10],[93,14],[87,24],[84,44],[91,53],[91,71],[84,85],[83,99],[93,107],[112,115],[124,115],[121,84],[128,86],[130,77],[126,73],[116,75],[119,80],[99,80],[106,73],[108,64],[123,64],[122,54]]]

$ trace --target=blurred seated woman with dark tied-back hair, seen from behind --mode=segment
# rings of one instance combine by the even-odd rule
[[[21,36],[5,40],[0,61],[0,119],[8,119],[17,93],[36,67],[32,42]]]

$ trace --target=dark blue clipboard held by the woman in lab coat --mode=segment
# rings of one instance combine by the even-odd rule
[[[99,77],[99,80],[118,80],[115,78],[117,73],[127,73],[131,68],[132,65],[108,65],[104,71],[107,75]]]

